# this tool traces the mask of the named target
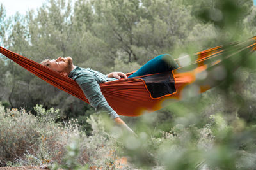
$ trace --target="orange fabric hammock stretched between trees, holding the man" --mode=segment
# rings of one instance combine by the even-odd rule
[[[180,67],[172,71],[176,89],[173,94],[152,98],[145,87],[145,82],[141,80],[141,77],[145,76],[101,83],[100,88],[109,105],[118,115],[138,116],[145,112],[156,111],[163,108],[169,101],[183,99],[188,92],[199,94],[221,83],[227,76],[227,69],[225,69],[227,63],[232,65],[232,71],[239,67],[244,57],[248,57],[256,49],[255,40],[256,37],[253,37],[248,41],[204,50],[196,53],[195,59],[193,57],[178,59]],[[88,103],[79,85],[71,78],[1,46],[0,53],[47,83]],[[184,64],[186,66],[182,66]]]

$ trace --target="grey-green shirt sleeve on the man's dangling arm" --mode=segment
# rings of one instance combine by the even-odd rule
[[[119,117],[111,106],[109,106],[106,98],[103,96],[100,86],[91,74],[83,74],[75,79],[77,84],[81,87],[84,95],[89,100],[90,104],[96,111],[106,111],[110,118],[114,119]]]

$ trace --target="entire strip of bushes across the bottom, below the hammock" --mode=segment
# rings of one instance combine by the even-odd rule
[[[206,96],[212,97],[211,93]],[[109,126],[100,116],[87,119],[92,126],[91,135],[87,136],[79,130],[77,120],[65,118],[68,121],[63,124],[54,123],[58,110],[45,110],[37,105],[38,117],[35,117],[26,110],[4,111],[0,105],[1,166],[51,164],[52,169],[255,167],[255,126],[246,126],[241,118],[230,118],[221,111],[205,117],[206,124],[202,124],[196,118],[202,117],[204,112],[200,115],[190,110],[177,117],[175,105],[180,107],[180,104],[172,106],[173,119],[161,120],[161,124],[171,124],[164,125],[164,131],[156,128],[150,131],[150,115],[138,118],[138,138]],[[214,110],[210,108],[210,111]]]

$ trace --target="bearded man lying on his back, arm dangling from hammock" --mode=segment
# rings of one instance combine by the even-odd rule
[[[84,95],[88,99],[91,106],[95,108],[96,111],[106,111],[110,118],[115,120],[118,125],[122,125],[129,132],[134,132],[125,124],[125,122],[118,116],[115,110],[109,106],[105,97],[100,90],[100,83],[107,81],[115,81],[120,78],[127,78],[127,76],[122,72],[112,72],[107,75],[100,73],[89,68],[81,68],[74,66],[71,57],[58,57],[58,59],[45,59],[41,62],[42,65],[47,66],[54,71],[57,71],[69,78],[72,78],[77,82],[79,87],[84,92]],[[162,73],[166,71],[171,71],[177,69],[179,66],[168,54],[163,54],[155,57],[154,59],[147,62],[138,71],[131,74],[128,78],[142,76],[146,74]]]

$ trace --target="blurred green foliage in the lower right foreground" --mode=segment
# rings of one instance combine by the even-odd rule
[[[252,161],[254,127],[245,129],[243,120],[230,118],[227,113],[205,118],[207,124],[204,125],[193,122],[204,113],[188,114],[168,122],[175,125],[170,125],[169,131],[163,132],[161,137],[154,137],[156,129],[153,132],[153,128],[149,132],[142,128],[139,138],[122,136],[123,154],[144,169],[157,166],[165,169],[250,169],[255,166]],[[246,159],[250,164],[244,162]]]

